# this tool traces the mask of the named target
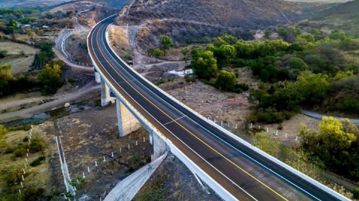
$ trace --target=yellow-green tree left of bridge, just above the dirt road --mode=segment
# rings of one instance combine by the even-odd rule
[[[37,75],[37,79],[43,85],[43,94],[55,94],[57,89],[62,86],[61,68],[62,66],[59,64],[46,64]]]

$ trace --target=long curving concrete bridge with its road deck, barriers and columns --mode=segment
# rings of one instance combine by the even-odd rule
[[[101,103],[116,101],[120,137],[143,125],[154,146],[167,151],[224,200],[348,200],[204,118],[129,67],[109,45],[107,26],[88,36]],[[101,118],[101,116],[98,116]]]

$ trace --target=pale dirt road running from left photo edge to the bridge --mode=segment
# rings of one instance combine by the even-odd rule
[[[100,92],[101,86],[94,85],[93,82],[85,85],[84,87],[70,92],[68,94],[59,94],[50,97],[53,101],[45,102],[33,107],[0,114],[0,122],[9,122],[20,118],[28,118],[33,114],[49,111],[54,108],[63,107],[66,102],[81,102],[89,99],[89,97],[97,96]],[[97,91],[97,93],[96,93]],[[91,94],[95,93],[93,96]]]

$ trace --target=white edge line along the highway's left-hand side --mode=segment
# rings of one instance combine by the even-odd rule
[[[97,27],[94,29],[94,31],[97,29]],[[93,36],[93,34],[92,34]],[[102,33],[103,36],[103,33]],[[101,37],[102,38],[102,37]],[[97,38],[96,38],[97,39]],[[92,45],[93,47],[93,45]],[[95,51],[94,51],[95,53]],[[98,60],[98,57],[95,53],[95,56]],[[101,63],[100,63],[101,64]],[[101,64],[102,65],[102,64]],[[115,79],[111,76],[111,74],[106,70],[106,68],[102,65],[103,69],[105,69],[105,71],[107,72],[107,74],[112,78],[112,80],[115,81]],[[120,85],[119,87],[133,100],[135,101]],[[143,110],[145,110],[150,116],[152,116],[152,114],[150,114],[150,112],[148,112],[145,108],[143,108],[137,101],[135,101]],[[159,122],[154,116],[152,116],[153,119],[155,119],[158,123],[161,124],[161,122]],[[162,125],[162,124],[161,124]],[[257,199],[255,199],[252,195],[250,195],[248,192],[246,192],[243,188],[241,188],[239,185],[237,185],[235,182],[233,182],[231,179],[229,179],[226,175],[224,175],[221,171],[219,171],[217,168],[215,168],[212,164],[210,164],[208,161],[206,161],[202,156],[200,156],[197,152],[195,152],[192,148],[190,148],[186,143],[184,143],[181,139],[179,139],[179,137],[177,137],[173,132],[171,132],[166,126],[163,126],[164,128],[166,128],[166,130],[168,130],[173,136],[175,136],[181,143],[183,143],[188,149],[190,149],[193,153],[195,153],[198,157],[200,157],[203,161],[205,161],[208,165],[210,165],[213,169],[215,169],[217,172],[219,172],[223,177],[225,177],[227,180],[229,180],[230,182],[232,182],[232,184],[234,184],[235,186],[237,186],[240,190],[242,190],[245,194],[247,194],[250,198],[252,198],[255,201],[258,201]]]

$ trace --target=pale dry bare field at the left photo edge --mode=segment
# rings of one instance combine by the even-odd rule
[[[15,42],[0,42],[0,50],[7,51],[7,56],[0,59],[0,64],[10,64],[13,75],[29,71],[38,52],[36,48]]]

